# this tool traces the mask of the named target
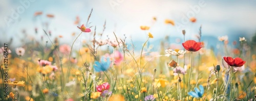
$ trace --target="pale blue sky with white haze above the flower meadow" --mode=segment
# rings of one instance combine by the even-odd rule
[[[30,5],[23,5],[28,2]],[[200,7],[200,2],[204,6]],[[112,4],[111,4],[112,3]],[[202,4],[202,3],[201,3]],[[1,38],[2,42],[8,42],[10,38],[15,41],[24,39],[29,41],[31,38],[37,40],[44,36],[41,22],[50,22],[49,30],[52,31],[52,39],[59,35],[63,36],[60,40],[62,43],[71,44],[74,37],[71,33],[75,32],[76,36],[80,32],[77,25],[74,24],[76,16],[81,19],[81,24],[86,23],[87,17],[93,8],[90,26],[97,26],[97,33],[101,32],[102,25],[106,20],[106,35],[113,37],[113,31],[117,36],[132,37],[133,40],[144,40],[145,32],[140,30],[140,25],[151,26],[149,30],[154,35],[153,40],[170,37],[182,37],[181,29],[187,32],[187,39],[195,39],[198,28],[202,25],[203,36],[224,36],[232,37],[233,34],[238,36],[252,36],[256,32],[256,1],[169,1],[169,0],[93,0],[93,1],[39,1],[39,0],[1,0],[0,4],[0,33],[5,37]],[[12,18],[13,11],[19,8],[25,8],[24,12],[18,14],[19,17],[9,25],[5,21],[6,17]],[[200,7],[198,12],[193,11],[194,7]],[[34,12],[42,11],[41,19],[33,16]],[[183,18],[188,13],[194,12],[197,18],[196,23],[183,23]],[[55,17],[49,19],[46,14],[53,14]],[[153,21],[153,17],[157,21]],[[176,25],[166,25],[165,19],[172,19]],[[38,34],[34,28],[38,28]],[[26,30],[28,37],[25,37],[22,30]],[[147,32],[149,32],[147,31]],[[138,36],[139,35],[139,36]],[[89,35],[82,35],[87,39]],[[143,39],[141,38],[143,37]],[[19,43],[17,44],[19,45]]]

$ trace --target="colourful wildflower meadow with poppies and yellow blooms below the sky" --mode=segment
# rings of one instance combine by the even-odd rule
[[[27,27],[33,33],[23,31],[26,37],[18,42],[1,41],[0,100],[256,100],[255,34],[204,39],[201,24],[175,33],[181,38],[167,35],[156,42],[160,33],[152,30],[163,29],[142,24],[137,43],[126,33],[105,32],[108,20],[94,25],[94,9],[84,11],[87,16],[74,19],[73,33],[54,36],[50,23],[39,20],[44,27]],[[42,11],[31,16],[55,20]],[[198,20],[190,17],[188,23]],[[67,36],[71,43],[63,40]]]

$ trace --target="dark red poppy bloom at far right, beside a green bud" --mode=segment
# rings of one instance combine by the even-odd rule
[[[234,66],[234,67],[239,67],[239,66],[243,66],[245,61],[242,60],[239,57],[236,58],[232,58],[232,57],[223,57],[223,59],[227,62],[228,65],[230,66]]]

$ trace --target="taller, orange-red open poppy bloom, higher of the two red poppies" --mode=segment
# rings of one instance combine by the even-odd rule
[[[203,44],[201,42],[196,42],[194,40],[188,40],[185,43],[182,43],[182,46],[187,51],[196,52],[196,51],[200,50],[203,47]]]

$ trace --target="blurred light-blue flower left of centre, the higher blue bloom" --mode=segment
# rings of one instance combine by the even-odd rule
[[[99,61],[95,61],[94,65],[93,65],[93,68],[94,68],[95,72],[106,71],[106,70],[109,69],[110,63],[111,63],[109,57],[107,57],[107,58],[101,57],[101,61],[100,62]]]

